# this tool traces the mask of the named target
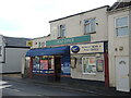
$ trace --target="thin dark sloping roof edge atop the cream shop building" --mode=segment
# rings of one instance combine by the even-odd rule
[[[72,17],[72,16],[75,16],[75,15],[84,14],[84,13],[92,12],[92,11],[103,9],[103,8],[109,8],[109,5],[104,5],[104,7],[96,8],[96,9],[90,10],[90,11],[85,11],[85,12],[76,13],[76,14],[73,14],[73,15],[66,16],[66,17],[61,17],[61,19],[58,19],[58,20],[49,21],[49,23],[60,21],[60,20],[64,20],[64,19],[68,19],[68,17]]]

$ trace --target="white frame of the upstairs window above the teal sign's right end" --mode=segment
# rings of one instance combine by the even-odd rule
[[[94,30],[92,30],[91,28],[92,28],[92,26],[91,26],[91,22],[88,22],[88,23],[85,23],[85,21],[91,21],[91,20],[94,20],[95,22],[94,22]],[[87,33],[87,30],[86,30],[86,25],[90,25],[90,32]],[[94,19],[86,19],[86,20],[84,20],[84,35],[86,35],[86,34],[92,34],[92,33],[96,33],[96,19],[94,17]]]

